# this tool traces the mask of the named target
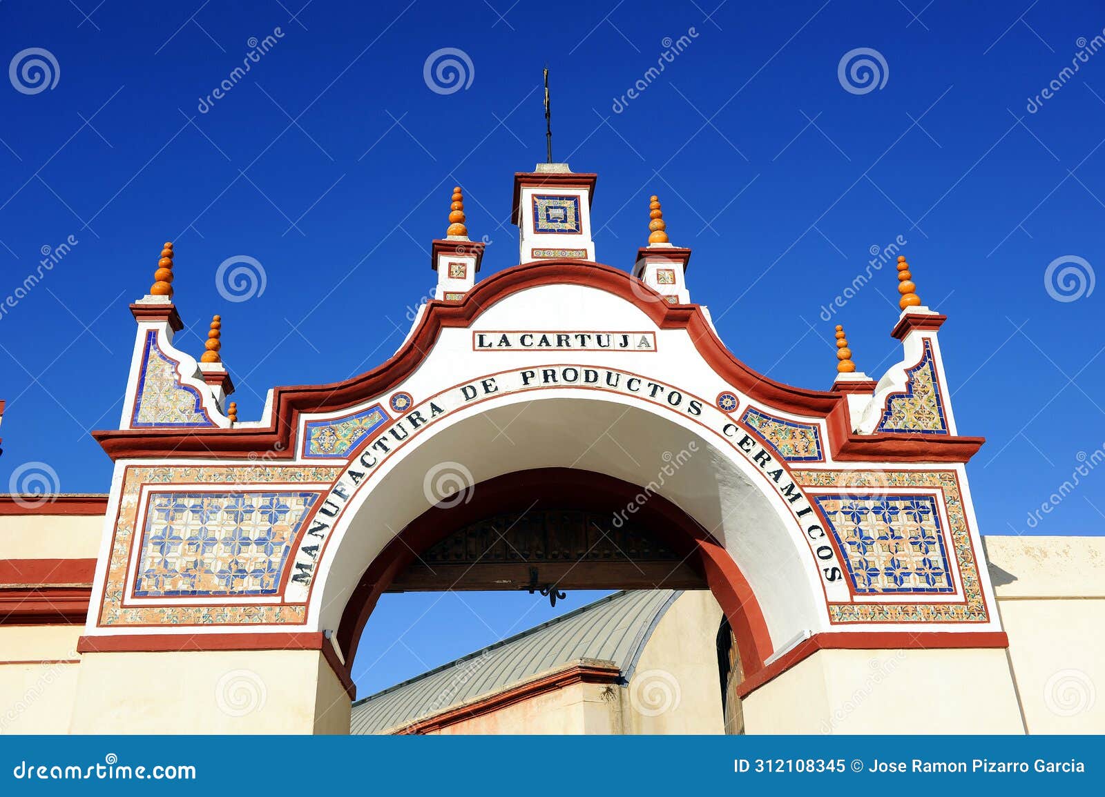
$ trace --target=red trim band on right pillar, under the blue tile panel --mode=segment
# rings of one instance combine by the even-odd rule
[[[946,650],[951,648],[1008,648],[1004,631],[835,631],[814,634],[767,667],[753,672],[737,687],[746,698],[819,650]]]

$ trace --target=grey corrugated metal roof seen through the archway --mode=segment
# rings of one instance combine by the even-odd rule
[[[628,679],[656,623],[681,594],[614,593],[385,689],[354,703],[350,733],[382,733],[407,725],[579,659],[612,661]]]

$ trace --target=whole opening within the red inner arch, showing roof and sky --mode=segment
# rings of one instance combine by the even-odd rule
[[[614,589],[622,592],[591,603],[603,592]],[[497,595],[511,593],[512,597],[529,595],[530,603],[522,610],[515,609],[518,617],[507,626],[496,624],[495,618],[476,617],[481,599],[491,597],[483,593],[492,591]],[[645,595],[645,592],[652,594]],[[478,649],[464,651],[469,655],[456,661],[442,661],[441,657],[433,658],[439,645],[430,652],[424,649],[419,652],[417,641],[411,647],[401,638],[369,636],[364,657],[356,660],[360,665],[359,672],[357,666],[351,669],[355,678],[358,674],[365,678],[366,669],[387,657],[397,641],[423,667],[409,673],[415,678],[394,687],[414,697],[385,693],[368,698],[368,701],[390,701],[376,712],[382,714],[382,719],[373,715],[366,720],[358,712],[361,706],[355,708],[354,731],[377,732],[383,727],[391,732],[397,727],[400,732],[440,731],[445,722],[435,719],[440,714],[448,715],[449,723],[469,731],[484,727],[472,724],[482,709],[472,705],[469,698],[478,703],[477,698],[486,692],[509,691],[509,679],[526,682],[543,671],[568,668],[572,661],[590,658],[587,652],[617,651],[610,655],[623,660],[617,662],[618,672],[611,673],[611,683],[632,684],[636,660],[645,650],[656,623],[673,602],[693,592],[705,596],[713,594],[717,603],[706,597],[713,610],[703,602],[693,606],[686,601],[686,605],[681,604],[682,618],[669,623],[690,624],[695,628],[684,629],[677,651],[661,647],[670,646],[671,641],[657,642],[650,652],[653,659],[678,656],[708,661],[713,667],[715,639],[709,629],[716,629],[717,617],[723,616],[718,604],[727,607],[743,629],[743,641],[749,655],[764,655],[760,652],[762,639],[756,638],[757,625],[762,625],[762,618],[739,568],[717,540],[663,496],[603,474],[570,468],[516,471],[475,485],[425,511],[389,543],[366,571],[349,599],[341,623],[346,636],[339,637],[339,644],[348,646],[346,649],[350,650],[352,659],[366,624],[381,598],[387,606],[388,598],[397,593],[429,593],[427,609],[401,631],[402,635],[409,634],[425,614],[434,609],[448,612],[451,603],[445,603],[448,596],[455,597],[467,610],[452,605],[460,615],[457,621],[466,620],[473,636],[485,645],[472,646]],[[545,608],[535,613],[533,602],[552,607],[559,605],[559,612]],[[444,606],[438,608],[441,604]],[[499,604],[496,608],[502,608],[502,602]],[[487,606],[486,603],[482,605]],[[511,605],[523,607],[517,599]],[[703,628],[698,628],[699,617],[704,618]],[[525,618],[529,620],[523,621]],[[543,619],[546,621],[541,623]],[[639,627],[634,623],[643,625]],[[554,628],[556,624],[560,625]],[[380,627],[387,629],[388,625],[380,624]],[[549,641],[543,647],[540,641],[528,638],[535,634],[548,637]],[[552,636],[557,634],[558,637]],[[636,638],[627,639],[627,634]],[[503,649],[511,646],[526,648],[526,651],[515,653]],[[513,657],[509,667],[493,661],[495,653],[501,653],[499,658]],[[366,660],[369,662],[367,668]],[[665,667],[677,669],[675,665]],[[455,672],[442,690],[433,684],[442,679],[440,670],[445,669]],[[669,669],[662,670],[667,680],[659,686],[659,692],[653,684],[630,689],[627,694],[643,694],[651,689],[652,700],[660,694],[660,700],[666,697],[671,702],[671,691],[675,690],[684,706],[690,709],[694,695],[702,690],[698,684],[671,676]],[[422,670],[428,672],[422,674]],[[711,669],[708,674],[707,682],[716,683],[719,673]],[[603,678],[601,673],[593,677]],[[417,683],[422,679],[431,680],[425,686]],[[610,694],[614,694],[614,686],[610,689]],[[448,692],[444,697],[443,691]],[[634,721],[641,722],[638,710],[642,700],[645,699],[627,698],[621,712],[614,711],[612,723],[624,730]],[[674,701],[672,708],[677,708],[680,700]],[[465,704],[466,713],[448,711],[454,703]],[[657,716],[653,713],[655,706],[643,705],[645,721]],[[720,732],[723,711],[720,706],[708,708],[709,711],[699,708],[695,712],[697,724],[676,722],[675,727],[686,732]],[[429,714],[421,716],[420,711]],[[648,729],[655,730],[652,725]]]

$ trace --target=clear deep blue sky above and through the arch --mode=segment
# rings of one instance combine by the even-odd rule
[[[892,272],[821,316],[872,247],[901,236],[925,304],[949,317],[959,429],[988,438],[969,466],[982,533],[1105,529],[1105,469],[1029,520],[1105,444],[1105,288],[1090,290],[1105,261],[1105,53],[1086,43],[1105,28],[1099,6],[302,4],[0,4],[3,62],[40,47],[57,65],[41,92],[0,81],[0,299],[44,247],[77,242],[0,315],[2,483],[41,460],[63,491],[107,489],[88,431],[117,423],[126,306],[147,291],[164,241],[176,243],[190,325],[178,343],[198,354],[196,331],[222,315],[243,419],[273,385],[344,379],[390,355],[432,288],[429,243],[454,183],[471,234],[491,242],[482,274],[513,265],[512,174],[544,160],[548,62],[555,155],[599,173],[600,261],[630,266],[648,195],[660,194],[672,241],[694,249],[692,297],[733,351],[823,389],[838,321],[862,370],[877,376],[898,358]],[[275,43],[201,111],[266,35]],[[423,76],[444,47],[472,65],[452,93]],[[838,66],[861,47],[877,52],[885,82],[848,91]],[[646,87],[620,102],[639,79]],[[246,301],[215,285],[236,255],[266,276]],[[1083,277],[1072,295],[1045,285],[1056,261],[1053,274]],[[369,631],[396,638],[434,597],[389,598]],[[470,609],[446,597],[401,645],[369,653],[366,638],[362,659],[390,650],[362,692],[493,640],[533,601],[472,596]],[[548,615],[536,608],[522,627]]]

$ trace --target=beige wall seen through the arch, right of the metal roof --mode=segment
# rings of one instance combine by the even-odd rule
[[[627,733],[724,733],[717,629],[722,607],[691,589],[664,613],[627,690]]]

